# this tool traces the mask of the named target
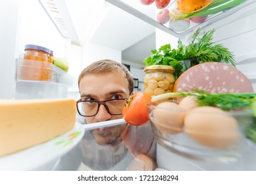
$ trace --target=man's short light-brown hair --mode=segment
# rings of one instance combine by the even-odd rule
[[[120,73],[124,78],[128,80],[129,83],[129,90],[130,94],[134,90],[134,79],[132,78],[132,75],[130,74],[128,68],[124,66],[124,64],[120,64],[119,62],[116,62],[114,60],[104,59],[104,60],[98,60],[84,68],[82,70],[79,78],[78,78],[78,87],[80,85],[80,81],[84,76],[88,74],[107,74],[107,73]]]

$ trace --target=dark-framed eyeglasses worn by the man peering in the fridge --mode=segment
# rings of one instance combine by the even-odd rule
[[[76,102],[78,113],[84,117],[95,116],[99,112],[99,106],[103,104],[111,115],[121,115],[126,99],[111,99],[107,101],[82,101]]]

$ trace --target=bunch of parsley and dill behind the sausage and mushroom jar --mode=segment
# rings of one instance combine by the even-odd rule
[[[225,62],[235,66],[234,55],[222,44],[213,42],[214,32],[215,29],[198,37],[200,30],[197,29],[187,46],[179,39],[178,49],[172,49],[170,44],[163,45],[158,50],[152,50],[143,62],[146,66],[161,64],[174,67],[175,80],[188,68],[202,62]]]

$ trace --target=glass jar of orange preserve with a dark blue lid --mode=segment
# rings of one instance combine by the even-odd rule
[[[53,51],[39,45],[25,45],[22,80],[51,81]]]

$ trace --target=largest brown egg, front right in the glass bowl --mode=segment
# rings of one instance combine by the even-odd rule
[[[224,149],[238,137],[238,122],[228,113],[213,106],[195,107],[184,118],[185,133],[205,147]]]

